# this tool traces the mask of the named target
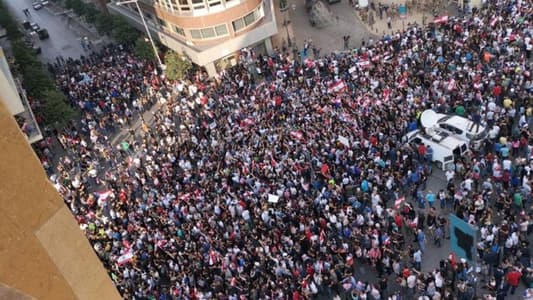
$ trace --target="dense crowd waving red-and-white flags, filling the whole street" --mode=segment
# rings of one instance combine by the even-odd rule
[[[43,162],[127,299],[504,299],[533,282],[532,16],[491,1],[349,53],[245,50],[175,82],[108,47],[52,67],[83,116]],[[403,142],[425,109],[492,133],[433,192]],[[478,264],[423,272],[449,212],[479,228]]]

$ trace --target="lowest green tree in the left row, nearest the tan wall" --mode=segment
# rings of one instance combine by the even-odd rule
[[[46,125],[60,129],[75,116],[75,112],[66,102],[65,95],[55,89],[43,93],[43,117]]]

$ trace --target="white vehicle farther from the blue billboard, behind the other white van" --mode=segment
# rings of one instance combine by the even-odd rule
[[[437,116],[438,120],[435,126],[468,141],[476,150],[483,145],[483,141],[488,137],[486,127],[481,124],[476,126],[472,120],[457,115],[437,114]]]

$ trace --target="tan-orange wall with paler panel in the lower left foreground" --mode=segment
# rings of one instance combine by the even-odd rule
[[[36,299],[121,299],[2,101],[0,149],[0,282]]]

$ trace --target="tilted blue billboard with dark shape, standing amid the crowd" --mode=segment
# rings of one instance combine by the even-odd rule
[[[476,259],[477,227],[472,226],[454,214],[450,214],[450,247],[452,252],[464,258],[470,265]]]

